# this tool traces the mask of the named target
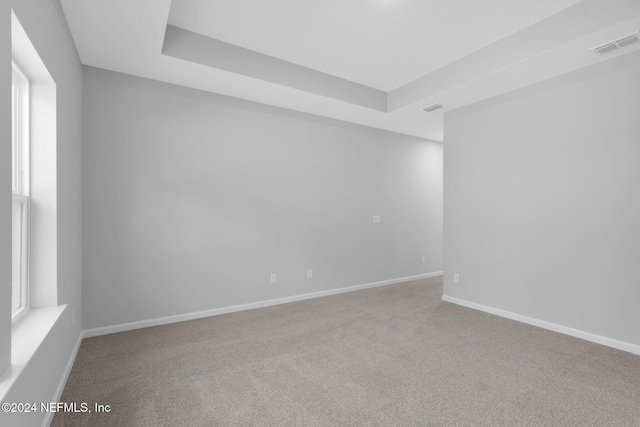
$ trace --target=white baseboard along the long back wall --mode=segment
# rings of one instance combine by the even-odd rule
[[[197,311],[193,313],[178,314],[175,316],[159,317],[155,319],[140,320],[137,322],[121,323],[118,325],[104,326],[100,328],[85,329],[82,331],[83,338],[90,338],[99,335],[114,334],[117,332],[130,331],[133,329],[148,328],[150,326],[166,325],[169,323],[184,322],[186,320],[201,319],[203,317],[218,316],[220,314],[234,313],[237,311],[252,310],[254,308],[269,307],[272,305],[286,304],[289,302],[302,301],[311,298],[337,295],[345,292],[360,291],[363,289],[375,288],[378,286],[393,285],[396,283],[409,282],[411,280],[426,279],[429,277],[441,276],[442,271],[433,273],[418,274],[415,276],[400,277],[397,279],[383,280],[380,282],[366,283],[364,285],[347,286],[345,288],[329,289],[326,291],[313,292],[309,294],[293,295],[284,298],[275,298],[264,301],[251,302],[248,304],[233,305],[229,307],[214,308],[212,310]]]

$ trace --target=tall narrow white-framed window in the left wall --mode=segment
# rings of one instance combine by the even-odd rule
[[[29,307],[29,79],[12,62],[12,232],[11,315]]]

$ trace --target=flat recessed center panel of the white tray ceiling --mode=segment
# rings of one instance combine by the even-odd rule
[[[169,24],[390,92],[580,0],[179,0]]]

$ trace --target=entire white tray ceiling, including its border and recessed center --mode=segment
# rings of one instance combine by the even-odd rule
[[[589,51],[640,30],[638,0],[61,3],[83,64],[440,141],[443,112],[640,47]]]

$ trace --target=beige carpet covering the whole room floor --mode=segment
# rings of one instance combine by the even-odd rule
[[[85,339],[54,426],[640,426],[640,356],[434,278]],[[640,327],[640,325],[639,325]]]

